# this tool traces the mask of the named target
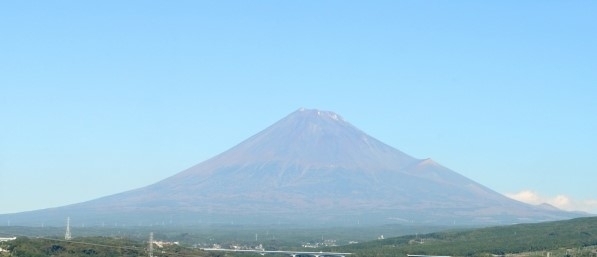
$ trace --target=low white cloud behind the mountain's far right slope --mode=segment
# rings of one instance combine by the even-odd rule
[[[573,199],[567,195],[544,196],[529,189],[505,195],[528,204],[548,203],[562,210],[597,213],[597,199]]]

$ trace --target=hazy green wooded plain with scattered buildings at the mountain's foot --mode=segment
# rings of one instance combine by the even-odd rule
[[[129,238],[135,241],[147,241],[150,232],[156,240],[180,242],[190,247],[212,247],[214,243],[225,247],[229,244],[259,245],[268,250],[290,249],[304,243],[316,243],[323,240],[335,240],[338,245],[349,242],[375,240],[380,235],[396,237],[415,233],[442,231],[453,226],[421,226],[419,224],[391,224],[384,226],[349,226],[349,227],[300,227],[291,225],[229,225],[205,224],[197,226],[151,226],[151,227],[74,227],[75,237],[106,236],[111,238]],[[64,227],[4,227],[0,226],[0,235],[26,235],[34,237],[56,237],[64,235]],[[257,235],[257,238],[256,238]],[[257,239],[257,240],[256,240]]]

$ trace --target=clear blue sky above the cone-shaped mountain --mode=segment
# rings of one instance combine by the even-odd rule
[[[301,107],[497,192],[597,213],[596,13],[595,1],[3,1],[0,213],[157,182]]]

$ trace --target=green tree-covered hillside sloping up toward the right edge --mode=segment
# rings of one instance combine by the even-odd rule
[[[356,256],[450,255],[493,256],[525,252],[553,252],[551,256],[596,256],[597,218],[519,224],[468,231],[402,236],[334,250]],[[579,250],[580,249],[580,250]],[[582,250],[585,249],[585,250]],[[593,250],[594,251],[594,250]]]

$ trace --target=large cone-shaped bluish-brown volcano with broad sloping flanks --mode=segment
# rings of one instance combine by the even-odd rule
[[[580,216],[524,204],[370,137],[338,114],[297,110],[153,185],[2,215],[12,224],[502,224]]]

